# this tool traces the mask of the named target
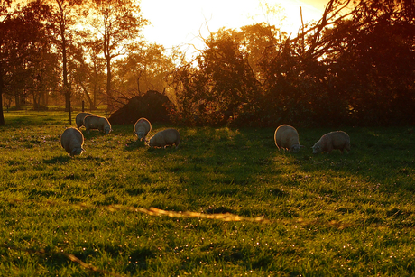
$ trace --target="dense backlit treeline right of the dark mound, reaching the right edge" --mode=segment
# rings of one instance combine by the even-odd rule
[[[410,0],[332,0],[295,38],[265,23],[212,33],[197,59],[172,75],[174,118],[195,125],[414,124],[414,9]]]

